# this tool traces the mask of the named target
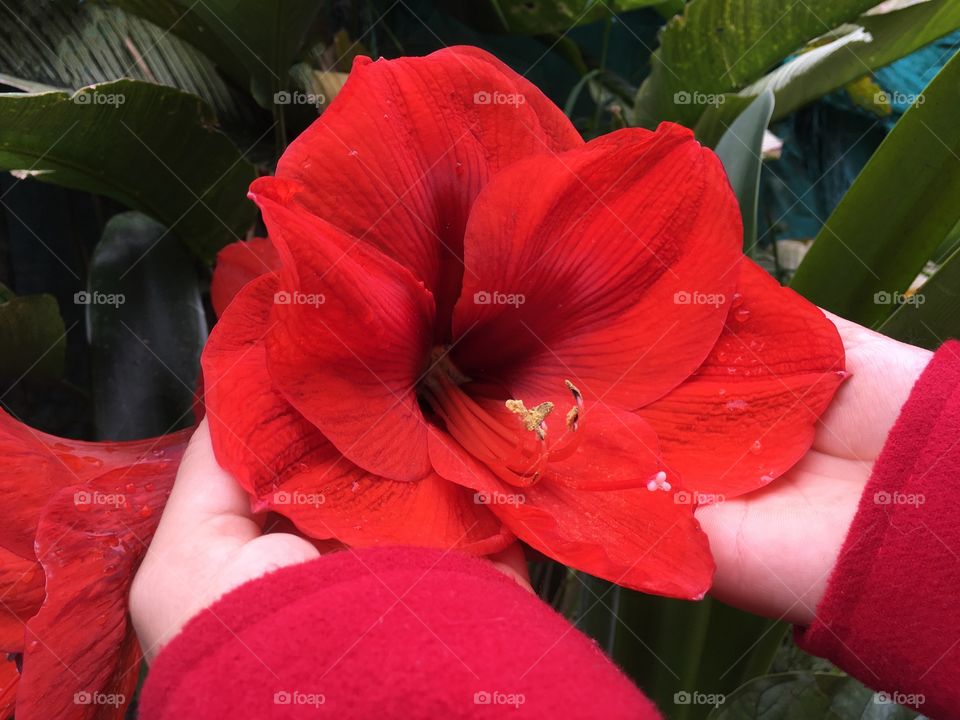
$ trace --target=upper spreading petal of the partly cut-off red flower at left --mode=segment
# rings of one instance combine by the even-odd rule
[[[24,558],[34,557],[37,524],[58,490],[175,450],[184,437],[180,432],[131,442],[67,440],[34,430],[0,411],[0,498],[6,513],[0,523],[0,547]]]

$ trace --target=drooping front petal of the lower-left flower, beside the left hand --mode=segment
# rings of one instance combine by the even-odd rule
[[[123,717],[140,660],[127,593],[188,433],[177,437],[177,452],[61,490],[47,506],[36,543],[46,599],[27,623],[18,718]]]

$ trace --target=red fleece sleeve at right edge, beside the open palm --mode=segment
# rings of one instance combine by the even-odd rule
[[[894,702],[960,718],[960,342],[887,438],[802,648]]]

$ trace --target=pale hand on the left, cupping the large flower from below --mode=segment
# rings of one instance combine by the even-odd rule
[[[282,527],[291,532],[276,531]],[[336,541],[307,540],[289,523],[254,515],[246,491],[217,464],[207,423],[201,422],[130,591],[130,614],[144,656],[152,661],[190,618],[230,590],[342,548]],[[529,589],[516,543],[490,559]]]

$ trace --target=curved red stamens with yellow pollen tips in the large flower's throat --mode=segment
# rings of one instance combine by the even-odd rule
[[[528,408],[523,400],[510,398],[503,404],[507,412],[497,412],[496,406],[484,406],[470,396],[465,390],[470,381],[444,348],[436,348],[420,396],[443,420],[451,437],[504,482],[518,487],[533,485],[548,462],[568,458],[577,449],[583,395],[569,380],[564,384],[574,405],[567,412],[564,432],[556,439],[547,427],[547,417],[554,410],[552,402]]]

